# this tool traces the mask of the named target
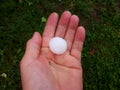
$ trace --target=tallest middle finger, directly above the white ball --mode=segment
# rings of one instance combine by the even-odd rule
[[[55,36],[64,37],[69,24],[70,17],[71,13],[69,11],[65,11],[62,13]]]

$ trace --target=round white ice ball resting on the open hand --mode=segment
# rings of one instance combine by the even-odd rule
[[[60,37],[54,37],[49,42],[50,50],[55,54],[63,54],[67,50],[67,42]]]

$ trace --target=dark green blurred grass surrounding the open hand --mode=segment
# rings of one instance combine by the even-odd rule
[[[64,10],[77,14],[86,28],[84,90],[119,90],[119,0],[0,0],[0,90],[21,90],[19,63],[26,41],[43,32],[50,13]]]

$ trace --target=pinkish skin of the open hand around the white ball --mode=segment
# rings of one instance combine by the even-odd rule
[[[35,32],[28,40],[20,63],[23,90],[82,90],[81,52],[85,29],[78,26],[79,18],[64,11],[48,17],[43,35]],[[67,41],[64,54],[49,50],[49,41],[59,36]]]

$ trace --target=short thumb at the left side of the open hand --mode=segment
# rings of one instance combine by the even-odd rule
[[[42,43],[41,35],[38,32],[35,32],[33,34],[33,37],[27,42],[24,56],[34,59],[37,58],[40,53],[41,43]]]

